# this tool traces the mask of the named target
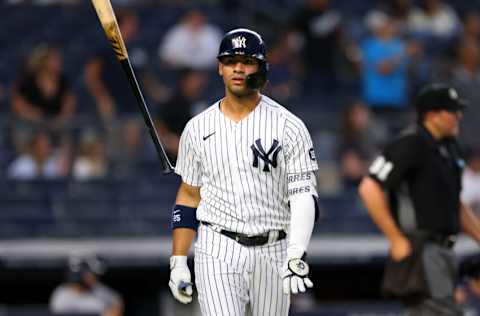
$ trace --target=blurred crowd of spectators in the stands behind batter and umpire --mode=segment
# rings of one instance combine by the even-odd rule
[[[358,184],[378,149],[414,121],[411,103],[419,87],[430,81],[451,83],[470,102],[460,136],[468,156],[465,198],[480,204],[480,11],[473,2],[463,10],[442,0],[372,3],[359,14],[346,14],[328,0],[270,1],[268,8],[289,8],[288,14],[273,10],[269,16],[259,9],[260,17],[244,18],[268,44],[264,93],[299,115],[331,114],[327,126],[305,120],[314,142],[325,143],[322,137],[315,139],[325,133],[316,131],[327,130],[333,139],[326,148],[317,146],[318,156],[326,157],[325,165],[334,162],[337,189],[348,190]],[[85,5],[75,0],[4,3],[25,4],[60,4],[71,10]],[[222,95],[216,53],[228,29],[203,9],[215,1],[169,2],[168,7],[178,4],[184,10],[162,30],[156,49],[149,50],[137,40],[151,32],[137,9],[165,4],[113,4],[156,128],[175,161],[186,122]],[[225,14],[247,6],[237,1],[221,5]],[[91,27],[102,32],[98,25]],[[82,57],[82,73],[72,74],[65,71],[62,46],[35,43],[16,65],[11,84],[0,87],[14,122],[7,124],[10,151],[1,155],[7,177],[128,177],[135,174],[135,163],[156,161],[129,83],[112,49],[103,44],[93,45],[95,51]],[[159,73],[168,73],[174,82]],[[74,89],[76,81],[87,98]],[[87,111],[79,104],[85,100],[93,105]],[[326,150],[331,152],[322,154]],[[322,170],[322,161],[320,166]]]

